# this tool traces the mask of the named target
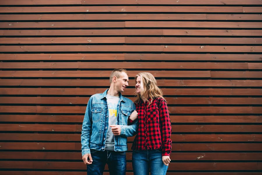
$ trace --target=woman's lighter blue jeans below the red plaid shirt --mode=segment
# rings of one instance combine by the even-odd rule
[[[132,165],[134,175],[165,175],[168,168],[159,150],[133,150]]]

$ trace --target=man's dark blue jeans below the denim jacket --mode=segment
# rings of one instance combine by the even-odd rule
[[[105,164],[108,164],[110,175],[126,174],[126,152],[125,151],[98,151],[90,149],[93,159],[92,164],[87,165],[88,175],[102,175]]]

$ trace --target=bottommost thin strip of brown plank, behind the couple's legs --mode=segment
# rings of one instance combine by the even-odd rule
[[[0,171],[1,175],[86,175],[86,172],[81,171]],[[109,175],[109,172],[104,172],[104,175]],[[167,172],[167,175],[206,175],[205,172]],[[260,175],[261,173],[254,173],[254,172],[222,172],[222,173],[216,173],[216,172],[209,172],[208,174],[211,175]],[[133,172],[126,172],[126,175],[133,175]]]

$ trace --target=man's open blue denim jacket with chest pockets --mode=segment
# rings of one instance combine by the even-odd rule
[[[90,154],[90,149],[105,150],[106,134],[108,129],[111,129],[108,126],[107,91],[108,89],[103,94],[92,95],[88,101],[81,134],[82,156]],[[126,151],[127,137],[136,135],[138,129],[137,120],[132,125],[127,125],[127,119],[136,107],[130,99],[123,97],[121,93],[119,98],[116,125],[121,125],[121,133],[119,136],[115,136],[114,150]]]

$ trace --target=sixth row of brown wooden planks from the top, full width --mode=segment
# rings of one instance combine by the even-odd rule
[[[36,37],[0,38],[1,44],[71,44],[71,43],[161,43],[161,44],[261,44],[262,38],[208,37]]]

